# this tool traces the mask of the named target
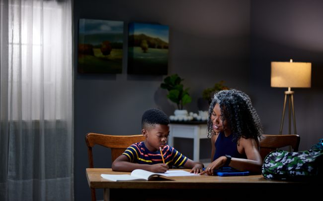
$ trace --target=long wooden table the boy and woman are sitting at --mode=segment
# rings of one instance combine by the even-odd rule
[[[189,170],[187,170],[189,171]],[[249,176],[184,176],[172,177],[175,181],[124,181],[113,182],[101,174],[130,174],[114,172],[111,168],[86,168],[88,185],[104,189],[104,200],[281,200],[282,198],[320,198],[322,184],[313,182],[287,182],[266,180],[262,175]],[[316,192],[317,190],[317,192]],[[287,192],[290,192],[286,194]],[[89,191],[90,193],[90,191]],[[266,196],[266,194],[270,194]]]

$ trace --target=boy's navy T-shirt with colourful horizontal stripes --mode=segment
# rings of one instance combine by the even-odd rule
[[[186,156],[168,145],[164,146],[161,151],[167,165],[182,167],[187,161]],[[149,151],[144,142],[131,145],[122,154],[126,155],[130,162],[134,163],[150,165],[162,163],[160,150]]]

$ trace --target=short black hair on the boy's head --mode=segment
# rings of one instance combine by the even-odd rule
[[[169,119],[165,112],[160,109],[151,108],[144,112],[141,119],[142,128],[146,126],[155,126],[155,124],[168,125]]]

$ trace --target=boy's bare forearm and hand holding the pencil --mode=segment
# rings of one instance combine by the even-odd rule
[[[112,163],[112,170],[119,172],[132,172],[135,169],[147,170],[150,172],[164,173],[168,170],[168,166],[163,163],[149,165],[130,162],[128,157],[121,154]]]

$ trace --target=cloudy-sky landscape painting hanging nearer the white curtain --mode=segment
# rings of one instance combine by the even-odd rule
[[[123,22],[80,19],[79,73],[121,73]]]

